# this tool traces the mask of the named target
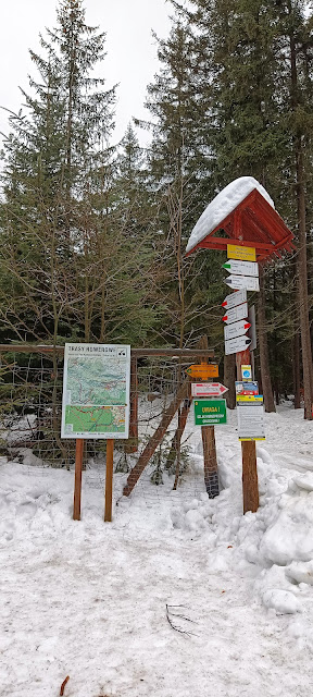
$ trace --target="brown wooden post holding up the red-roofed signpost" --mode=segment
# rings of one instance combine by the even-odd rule
[[[237,380],[241,380],[241,365],[251,364],[249,348],[236,354]],[[243,514],[247,511],[255,513],[259,509],[259,485],[256,469],[256,448],[254,440],[241,441],[242,453],[242,494]]]

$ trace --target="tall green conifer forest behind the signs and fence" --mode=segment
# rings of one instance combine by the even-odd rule
[[[170,4],[168,38],[154,36],[150,119],[134,114],[120,143],[118,86],[97,76],[105,26],[88,26],[84,2],[60,0],[55,26],[30,50],[34,76],[1,151],[0,343],[181,348],[205,334],[234,382],[225,254],[185,250],[206,205],[249,175],[295,234],[255,294],[256,377],[270,380],[266,411],[289,394],[297,408],[304,392],[313,402],[313,10],[302,0]]]

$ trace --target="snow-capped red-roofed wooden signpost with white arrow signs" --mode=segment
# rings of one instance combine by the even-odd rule
[[[218,235],[221,230],[226,233],[226,237]],[[239,325],[242,320],[242,333],[226,340],[226,351],[236,351],[237,380],[241,380],[241,365],[251,363],[251,340],[245,333],[243,320],[247,320],[247,315],[242,316],[245,310],[239,308],[243,304],[247,307],[247,290],[259,290],[255,262],[264,264],[281,258],[283,252],[293,248],[292,237],[291,231],[275,210],[272,198],[252,176],[241,176],[217,194],[199,218],[189,237],[187,256],[196,249],[227,250],[228,261],[224,267],[231,276],[226,283],[234,290],[240,289],[235,290],[223,303],[225,322],[228,320],[227,313],[230,315],[229,310],[238,308],[238,314],[233,313],[229,327],[231,322],[237,321]],[[229,259],[234,259],[234,262]],[[243,513],[255,512],[259,508],[255,439],[241,441],[241,449]]]

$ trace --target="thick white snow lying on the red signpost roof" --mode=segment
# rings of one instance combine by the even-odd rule
[[[227,184],[200,216],[189,237],[186,252],[193,249],[212,230],[217,228],[254,188],[258,188],[258,192],[267,200],[270,206],[275,208],[271,196],[259,184],[256,179],[253,176],[239,176],[239,179],[235,179],[234,182]]]

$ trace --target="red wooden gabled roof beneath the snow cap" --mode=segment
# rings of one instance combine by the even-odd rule
[[[228,237],[214,236],[223,229]],[[227,244],[255,247],[256,260],[281,257],[281,250],[295,249],[293,234],[267,200],[254,188],[212,232],[190,249],[227,249]]]

